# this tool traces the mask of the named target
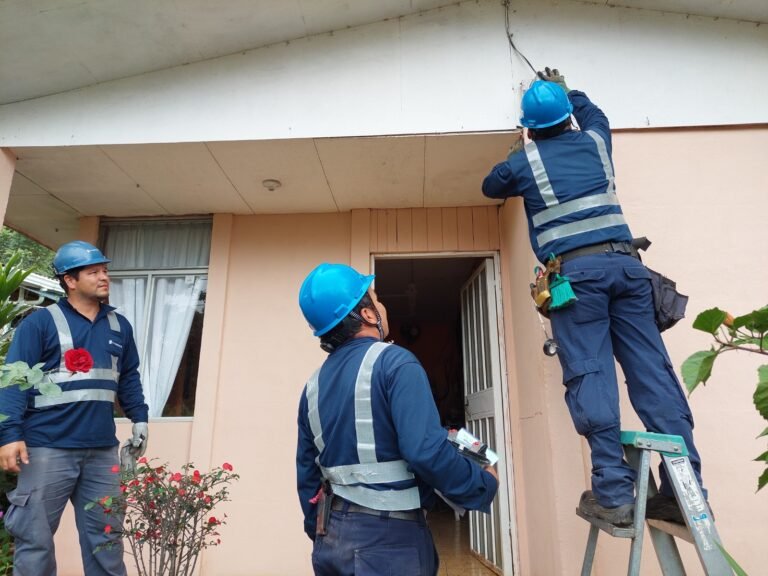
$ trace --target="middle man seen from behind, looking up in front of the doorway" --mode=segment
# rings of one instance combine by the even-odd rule
[[[304,530],[314,540],[317,576],[434,576],[439,560],[424,512],[434,491],[489,512],[498,477],[449,444],[421,364],[383,342],[387,311],[373,278],[321,264],[299,293],[304,317],[329,353],[299,403]]]

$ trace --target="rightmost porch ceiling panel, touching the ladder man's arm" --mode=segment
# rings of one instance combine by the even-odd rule
[[[426,137],[424,206],[497,204],[483,196],[483,178],[507,157],[512,134]]]

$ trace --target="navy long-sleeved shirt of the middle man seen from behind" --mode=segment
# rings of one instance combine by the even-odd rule
[[[363,357],[375,342],[374,338],[345,342],[320,370],[318,410],[325,442],[320,463],[324,467],[358,463],[355,382]],[[426,372],[411,352],[391,345],[381,353],[373,366],[371,404],[378,461],[405,460],[416,476],[415,480],[371,488],[407,488],[415,483],[423,508],[431,508],[437,489],[465,508],[490,510],[498,483],[448,443]],[[321,473],[315,464],[318,453],[309,425],[306,387],[299,402],[298,425],[298,493],[304,530],[314,539],[316,506],[309,500],[320,487]]]

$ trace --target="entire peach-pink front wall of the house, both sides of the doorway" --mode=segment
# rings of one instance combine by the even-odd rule
[[[698,311],[719,305],[736,314],[766,303],[768,270],[750,266],[767,248],[761,234],[768,129],[627,132],[617,134],[614,145],[627,219],[635,234],[654,241],[646,262],[690,295],[689,318],[665,336],[679,368],[709,345],[706,335],[691,329]],[[311,574],[310,541],[295,493],[295,422],[304,381],[324,354],[296,302],[306,273],[322,261],[364,270],[373,252],[497,247],[520,574],[572,574],[580,565],[587,525],[574,508],[588,486],[588,449],[565,408],[559,364],[541,353],[544,336],[527,289],[535,262],[522,207],[510,200],[498,220],[495,212],[215,217],[196,416],[192,422],[153,422],[150,441],[151,453],[163,460],[190,458],[202,468],[226,460],[242,475],[226,509],[223,544],[204,556],[205,576]],[[761,466],[752,462],[765,449],[764,441],[754,440],[765,427],[751,403],[758,363],[747,356],[725,358],[711,384],[691,398],[718,528],[751,574],[768,563],[762,546],[768,495],[754,494]],[[625,427],[638,427],[626,402],[624,415]],[[127,436],[127,425],[120,434]],[[60,573],[80,574],[71,523],[62,525],[57,542]],[[680,547],[686,564],[695,566],[692,548]],[[594,573],[615,574],[627,558],[627,542],[602,536]],[[658,574],[654,564],[648,544],[643,573]]]

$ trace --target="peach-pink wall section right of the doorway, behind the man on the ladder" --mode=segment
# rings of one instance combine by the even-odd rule
[[[768,249],[763,233],[768,173],[762,167],[767,149],[766,128],[615,135],[624,213],[635,235],[654,242],[644,260],[690,296],[688,318],[665,333],[678,373],[685,358],[710,345],[706,334],[691,328],[699,312],[719,306],[737,315],[767,303],[768,270],[762,265]],[[562,399],[559,363],[541,353],[544,336],[527,293],[535,261],[521,203],[508,201],[500,219],[521,572],[572,574],[581,564],[588,531],[574,509],[589,487],[589,449],[573,430]],[[690,398],[718,530],[750,574],[764,572],[768,563],[762,545],[768,494],[754,493],[763,466],[752,462],[765,450],[764,440],[755,440],[765,422],[752,405],[760,360],[726,355],[710,384]],[[622,413],[625,428],[641,429],[626,394]],[[693,547],[683,542],[680,549],[696,573]],[[627,541],[601,536],[593,573],[616,574],[617,566],[626,565],[628,550]],[[643,574],[660,573],[655,565],[648,543]]]

